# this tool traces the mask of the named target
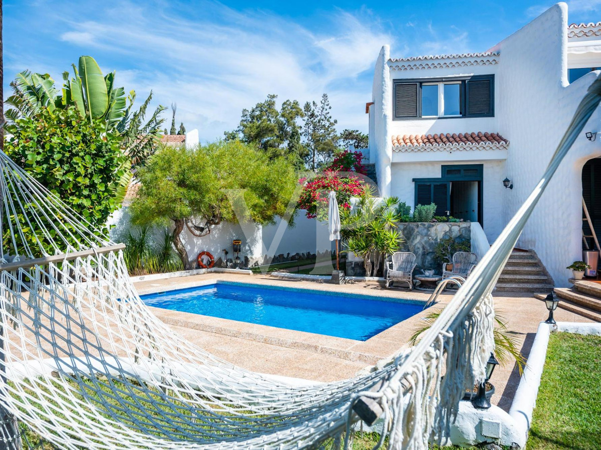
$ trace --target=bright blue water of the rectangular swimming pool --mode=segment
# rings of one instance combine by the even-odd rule
[[[141,296],[147,305],[367,341],[423,306],[377,297],[217,283]]]

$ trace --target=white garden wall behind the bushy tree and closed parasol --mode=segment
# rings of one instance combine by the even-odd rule
[[[111,230],[111,239],[115,242],[123,242],[127,231],[130,228],[129,213],[127,207],[115,211],[109,217],[109,225],[115,225]],[[237,223],[224,222],[211,229],[211,233],[203,237],[192,236],[189,231],[184,228],[182,240],[186,246],[186,251],[191,261],[195,261],[197,255],[201,251],[209,251],[215,259],[224,257],[223,249],[229,252],[228,258],[234,258],[232,253],[232,241],[234,239],[242,240],[242,252],[240,257],[261,258],[264,255],[279,255],[290,253],[291,255],[298,253],[316,253],[332,249],[332,243],[329,241],[329,233],[327,224],[318,222],[316,219],[307,219],[304,211],[300,211],[295,219],[294,227],[288,227],[287,222],[282,223],[281,240],[279,243],[276,232],[282,222],[279,217],[273,225],[249,224],[242,227]],[[246,232],[246,234],[245,234]],[[162,237],[163,231],[160,228],[155,230],[154,236],[156,239]]]

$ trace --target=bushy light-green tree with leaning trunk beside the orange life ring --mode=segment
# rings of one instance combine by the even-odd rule
[[[253,145],[219,141],[197,148],[163,147],[138,172],[141,187],[131,205],[132,223],[174,227],[173,243],[185,269],[192,264],[181,239],[184,227],[196,237],[219,223],[272,223],[285,213],[297,177],[283,157],[269,157]],[[243,216],[230,193],[243,200]]]

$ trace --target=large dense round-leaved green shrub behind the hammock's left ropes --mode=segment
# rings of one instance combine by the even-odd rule
[[[121,137],[106,130],[104,120],[82,118],[75,108],[53,112],[41,108],[34,117],[17,119],[11,132],[4,142],[5,153],[105,233],[106,220],[120,206],[121,178],[129,172]],[[50,223],[47,228],[52,230]],[[35,236],[32,242],[39,248]],[[41,245],[46,246],[44,242]]]

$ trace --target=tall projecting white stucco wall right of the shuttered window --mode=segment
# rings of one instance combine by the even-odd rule
[[[511,141],[505,168],[514,184],[503,197],[507,223],[540,179],[595,74],[567,84],[566,4],[550,8],[495,49],[501,53],[498,90],[504,94],[496,114],[499,132]],[[598,130],[600,118],[597,111],[585,131]],[[568,285],[565,267],[582,258],[582,165],[601,155],[600,144],[582,133],[518,241],[537,252],[558,286]]]

